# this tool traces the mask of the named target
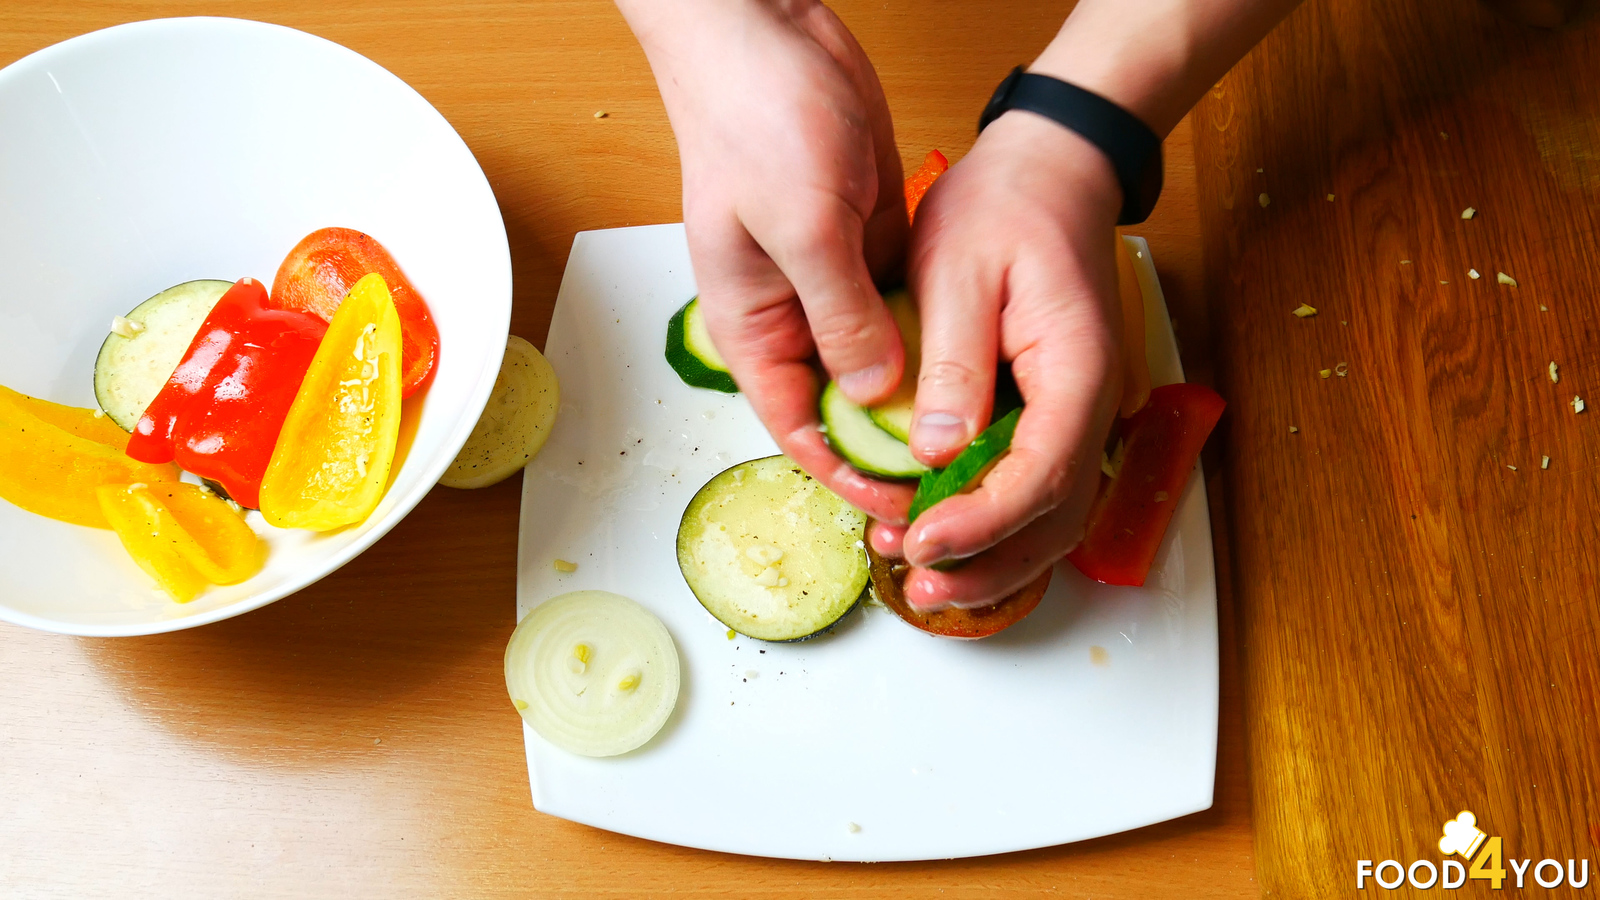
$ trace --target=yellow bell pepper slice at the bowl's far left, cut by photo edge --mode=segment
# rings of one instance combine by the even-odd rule
[[[29,512],[109,528],[94,488],[178,480],[178,466],[130,460],[126,444],[128,436],[93,410],[0,389],[0,498]]]

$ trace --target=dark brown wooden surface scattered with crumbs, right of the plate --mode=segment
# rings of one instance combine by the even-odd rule
[[[1597,855],[1597,58],[1592,24],[1317,0],[1194,114],[1272,895],[1437,862],[1461,809]]]

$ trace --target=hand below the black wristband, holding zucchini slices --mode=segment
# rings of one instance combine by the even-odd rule
[[[1114,226],[1122,192],[1093,144],[1027,112],[997,119],[917,208],[909,285],[922,312],[912,453],[947,464],[989,421],[998,357],[1026,407],[973,493],[870,540],[912,565],[920,609],[986,605],[1070,551],[1120,397]],[[966,560],[934,570],[941,562]]]

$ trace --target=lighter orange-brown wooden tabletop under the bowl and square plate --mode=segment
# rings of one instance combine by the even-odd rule
[[[910,162],[930,147],[960,157],[994,83],[1037,53],[1064,14],[1043,0],[838,8],[878,64]],[[0,64],[122,21],[218,10],[8,3]],[[654,82],[603,0],[221,10],[341,42],[450,119],[499,199],[515,274],[512,330],[536,344],[576,231],[680,218],[677,155]],[[594,119],[602,109],[610,115]],[[1203,373],[1187,127],[1168,160],[1166,195],[1141,232],[1152,239],[1187,362]],[[435,490],[336,575],[195,631],[86,641],[0,626],[0,894],[1254,894],[1226,593],[1218,804],[1205,814],[1051,850],[878,866],[702,854],[536,814],[501,679],[517,501],[515,479],[483,492]],[[1213,509],[1222,508],[1213,492]]]

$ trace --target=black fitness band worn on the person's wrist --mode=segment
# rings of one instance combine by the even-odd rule
[[[978,131],[1010,109],[1037,112],[1099,147],[1122,184],[1117,224],[1139,224],[1162,195],[1162,139],[1138,115],[1061,78],[1024,72],[1021,66],[989,98]]]

